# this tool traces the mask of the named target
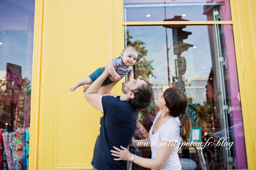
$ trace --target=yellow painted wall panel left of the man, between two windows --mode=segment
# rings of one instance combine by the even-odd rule
[[[115,3],[118,4],[118,3]],[[123,50],[122,10],[113,29],[111,0],[36,2],[30,168],[92,169],[100,112],[78,80]],[[121,5],[121,3],[119,4]],[[118,35],[114,41],[113,31]],[[115,46],[113,46],[113,44]],[[115,47],[115,48],[113,48]],[[115,87],[120,94],[120,83]]]

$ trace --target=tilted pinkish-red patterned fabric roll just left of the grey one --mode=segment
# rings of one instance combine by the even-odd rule
[[[11,154],[11,148],[10,148],[10,144],[9,144],[9,137],[8,137],[8,135],[9,135],[8,132],[4,132],[2,134],[3,145],[4,145],[4,149],[5,149],[8,169],[9,170],[15,170],[14,166],[13,166],[13,160],[12,160],[12,154]]]

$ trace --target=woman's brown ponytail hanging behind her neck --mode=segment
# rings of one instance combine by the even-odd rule
[[[192,130],[191,119],[188,114],[183,114],[183,118],[181,120],[181,138],[183,142],[189,142],[189,136]]]

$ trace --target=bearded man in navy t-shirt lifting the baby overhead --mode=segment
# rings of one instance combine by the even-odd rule
[[[103,91],[111,91],[116,82],[102,86],[102,82],[109,76],[107,68],[100,77],[86,90],[85,99],[102,112],[100,132],[97,137],[91,164],[94,170],[126,170],[126,161],[115,161],[110,150],[113,146],[128,147],[136,130],[138,108],[145,108],[153,98],[153,89],[143,80],[130,79],[122,84],[120,98]],[[100,88],[101,87],[101,88]],[[101,90],[99,92],[99,90]]]

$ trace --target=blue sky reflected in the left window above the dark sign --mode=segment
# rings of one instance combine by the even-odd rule
[[[6,70],[6,63],[15,64],[22,67],[22,77],[26,77],[29,15],[22,10],[26,11],[0,5],[0,43],[4,43],[0,45],[0,70]]]

